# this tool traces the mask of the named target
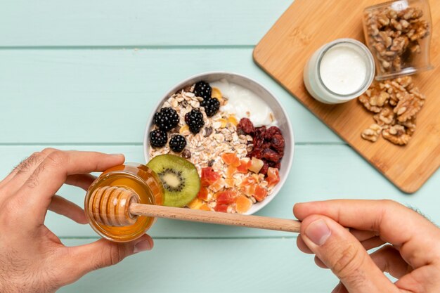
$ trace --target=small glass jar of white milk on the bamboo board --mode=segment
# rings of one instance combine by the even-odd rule
[[[364,93],[375,77],[370,50],[355,39],[337,39],[318,49],[304,68],[304,85],[321,103],[339,104]]]

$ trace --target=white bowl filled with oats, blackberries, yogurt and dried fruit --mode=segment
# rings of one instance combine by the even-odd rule
[[[173,86],[151,112],[143,139],[145,162],[170,154],[198,169],[202,187],[186,207],[240,214],[254,214],[280,192],[294,148],[278,99],[231,72],[205,72]]]

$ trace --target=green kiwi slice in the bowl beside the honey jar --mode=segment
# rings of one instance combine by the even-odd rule
[[[164,185],[164,205],[185,207],[200,190],[200,177],[195,166],[183,157],[158,155],[148,164]]]

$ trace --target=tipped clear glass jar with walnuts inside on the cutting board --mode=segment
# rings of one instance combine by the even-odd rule
[[[389,1],[365,8],[365,41],[375,56],[377,80],[432,70],[431,12],[427,0]]]

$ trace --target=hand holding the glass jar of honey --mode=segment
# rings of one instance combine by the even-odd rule
[[[148,235],[128,243],[98,240],[65,247],[44,226],[48,209],[87,223],[84,211],[56,192],[64,183],[86,190],[94,180],[90,172],[123,162],[123,155],[46,149],[0,181],[0,292],[54,292],[90,271],[153,247]]]

